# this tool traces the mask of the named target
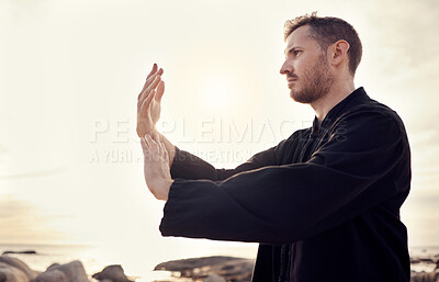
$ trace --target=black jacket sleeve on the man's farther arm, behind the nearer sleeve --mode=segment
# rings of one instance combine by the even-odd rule
[[[282,143],[281,143],[282,144]],[[203,159],[176,147],[176,156],[171,166],[172,179],[198,180],[207,179],[212,181],[225,180],[238,172],[252,170],[267,166],[275,165],[277,147],[261,151],[252,156],[249,160],[235,169],[215,169],[211,163]]]

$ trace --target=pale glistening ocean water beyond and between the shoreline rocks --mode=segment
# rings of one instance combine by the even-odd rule
[[[115,262],[110,261],[105,258],[105,251],[100,247],[95,246],[69,246],[69,245],[11,245],[0,244],[0,253],[3,251],[23,251],[23,250],[35,250],[36,255],[10,255],[24,261],[30,268],[44,271],[52,263],[67,263],[72,260],[80,260],[86,269],[87,274],[90,277],[101,271],[105,266],[109,264],[122,264],[125,269],[125,274],[136,279],[136,282],[153,282],[153,281],[182,281],[173,278],[170,272],[167,271],[153,271],[154,267],[164,261],[145,260],[145,263],[139,263],[138,258],[136,261],[124,261]],[[256,246],[250,245],[236,245],[236,246],[218,246],[217,249],[210,248],[212,253],[205,253],[206,256],[235,256],[243,258],[254,258],[256,256]],[[429,258],[439,255],[439,247],[410,247],[412,257],[424,257]],[[189,258],[189,257],[187,257]],[[181,259],[181,258],[175,258]],[[342,267],[342,266],[341,266]],[[434,264],[418,263],[413,264],[412,269],[415,271],[432,271]]]

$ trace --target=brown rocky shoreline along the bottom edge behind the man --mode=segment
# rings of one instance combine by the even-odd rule
[[[14,252],[8,252],[14,253]],[[32,252],[29,252],[32,253]],[[412,282],[439,282],[439,255],[413,257]],[[169,271],[172,280],[151,282],[245,282],[250,281],[252,259],[235,257],[203,257],[172,260],[159,263],[156,271]],[[415,271],[420,269],[420,271]],[[0,256],[0,282],[134,282],[125,275],[121,266],[105,267],[101,272],[89,277],[81,261],[54,263],[46,271],[32,270],[23,261],[9,255]]]

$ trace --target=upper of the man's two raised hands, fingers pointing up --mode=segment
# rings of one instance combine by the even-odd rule
[[[137,135],[145,138],[145,134],[156,131],[156,123],[160,117],[160,101],[165,93],[165,82],[161,80],[164,70],[154,64],[146,78],[145,86],[137,98]]]

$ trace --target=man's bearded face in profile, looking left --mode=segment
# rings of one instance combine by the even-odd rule
[[[286,38],[285,63],[280,72],[286,76],[291,98],[301,103],[313,103],[328,93],[334,77],[326,52],[309,36],[309,26],[295,30]]]

